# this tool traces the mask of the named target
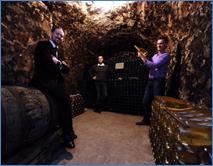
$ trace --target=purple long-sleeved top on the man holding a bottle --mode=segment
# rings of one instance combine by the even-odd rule
[[[145,65],[150,69],[149,78],[165,78],[170,55],[168,53],[157,53],[152,61],[146,60]]]

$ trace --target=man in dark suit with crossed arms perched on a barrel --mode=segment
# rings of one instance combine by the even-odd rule
[[[50,40],[37,43],[34,54],[35,70],[31,85],[57,101],[63,141],[66,147],[74,148],[74,139],[77,136],[73,130],[70,98],[65,90],[62,75],[69,73],[69,66],[58,52],[58,45],[63,39],[63,29],[55,27],[52,29]]]

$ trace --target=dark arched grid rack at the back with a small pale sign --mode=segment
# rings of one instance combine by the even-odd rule
[[[140,115],[148,69],[135,53],[123,52],[113,58],[109,65],[113,73],[108,80],[109,108],[115,112]],[[122,64],[120,68],[118,64]]]

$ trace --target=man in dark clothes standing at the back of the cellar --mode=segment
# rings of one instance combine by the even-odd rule
[[[106,108],[107,104],[107,75],[108,65],[104,64],[104,57],[98,56],[98,64],[90,69],[90,76],[95,81],[96,88],[96,112],[101,112],[101,109]]]

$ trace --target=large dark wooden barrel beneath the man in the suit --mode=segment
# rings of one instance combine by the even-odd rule
[[[3,86],[2,157],[6,160],[43,136],[55,123],[56,105],[39,90]]]

